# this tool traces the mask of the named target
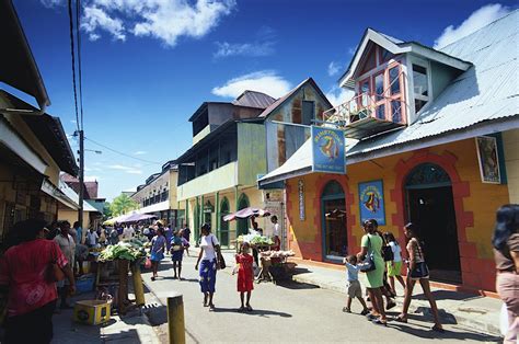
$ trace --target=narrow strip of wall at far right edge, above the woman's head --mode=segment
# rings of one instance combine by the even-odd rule
[[[503,131],[510,203],[519,204],[519,129]]]

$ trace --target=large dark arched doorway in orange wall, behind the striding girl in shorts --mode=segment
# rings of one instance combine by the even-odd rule
[[[414,168],[405,180],[407,219],[424,242],[430,277],[461,283],[454,198],[449,174],[434,163]]]

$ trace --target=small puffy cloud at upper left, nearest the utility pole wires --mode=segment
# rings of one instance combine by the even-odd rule
[[[96,41],[101,37],[96,33],[99,28],[107,31],[114,39],[126,41],[123,21],[117,18],[111,18],[108,13],[95,4],[84,8],[81,28],[89,34],[90,41]]]

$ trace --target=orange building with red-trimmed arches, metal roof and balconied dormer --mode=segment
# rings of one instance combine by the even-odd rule
[[[286,181],[289,246],[337,263],[374,218],[405,246],[412,221],[432,280],[495,290],[498,207],[518,203],[519,11],[435,50],[368,30],[323,116],[347,140],[346,175],[312,173],[312,140],[260,184]]]

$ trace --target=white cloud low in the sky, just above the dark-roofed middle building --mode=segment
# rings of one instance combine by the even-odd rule
[[[211,92],[219,96],[237,98],[243,91],[251,90],[279,98],[290,91],[290,82],[276,72],[264,70],[231,79],[226,84],[214,88]]]

